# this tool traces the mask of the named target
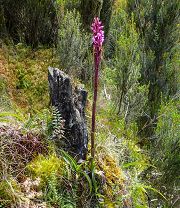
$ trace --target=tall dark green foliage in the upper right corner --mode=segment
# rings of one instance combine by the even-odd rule
[[[178,0],[128,1],[129,15],[133,13],[143,49],[141,83],[149,84],[149,114],[157,116],[161,98],[177,90],[174,56],[178,41]]]

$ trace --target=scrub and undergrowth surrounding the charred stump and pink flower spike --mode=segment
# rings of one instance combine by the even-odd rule
[[[178,0],[1,0],[0,207],[179,207]],[[96,157],[53,143],[47,67],[88,89],[100,16]],[[90,128],[89,128],[90,129]]]

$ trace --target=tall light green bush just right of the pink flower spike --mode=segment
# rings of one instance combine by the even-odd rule
[[[110,28],[110,38],[113,50],[108,52],[112,57],[110,60],[111,72],[108,74],[115,86],[113,100],[117,103],[117,113],[124,118],[126,123],[129,123],[142,115],[148,92],[147,86],[141,86],[139,83],[141,49],[133,16],[128,19],[125,10],[115,11]]]

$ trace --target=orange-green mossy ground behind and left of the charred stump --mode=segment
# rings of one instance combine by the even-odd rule
[[[0,49],[1,82],[12,102],[24,111],[48,107],[48,66],[58,67],[53,49],[33,51],[22,44]]]

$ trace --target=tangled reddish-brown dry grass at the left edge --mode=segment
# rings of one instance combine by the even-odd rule
[[[20,178],[26,164],[47,151],[40,135],[12,126],[0,127],[0,146],[0,179],[9,174]]]

